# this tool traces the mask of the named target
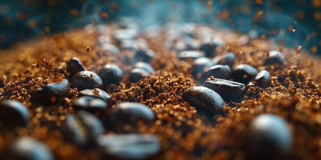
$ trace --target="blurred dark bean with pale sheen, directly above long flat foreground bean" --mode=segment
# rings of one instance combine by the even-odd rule
[[[124,125],[135,126],[138,121],[148,124],[155,119],[154,111],[146,105],[139,103],[122,102],[115,105],[108,116],[109,125],[123,127]]]

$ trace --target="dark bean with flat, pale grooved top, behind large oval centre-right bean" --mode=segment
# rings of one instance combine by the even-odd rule
[[[245,93],[245,84],[225,79],[207,80],[203,86],[218,93],[226,102],[240,99]]]

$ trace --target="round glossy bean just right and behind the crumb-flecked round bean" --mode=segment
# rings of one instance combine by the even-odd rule
[[[98,75],[106,83],[117,83],[124,77],[123,70],[114,64],[106,64],[98,72]]]

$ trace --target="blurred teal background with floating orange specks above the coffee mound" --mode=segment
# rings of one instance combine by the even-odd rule
[[[0,48],[122,17],[207,24],[321,55],[321,0],[1,0]]]

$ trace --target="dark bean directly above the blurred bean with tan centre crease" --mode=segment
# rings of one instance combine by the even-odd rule
[[[97,117],[102,117],[107,111],[107,102],[90,96],[79,97],[72,101],[74,110],[86,110]]]

